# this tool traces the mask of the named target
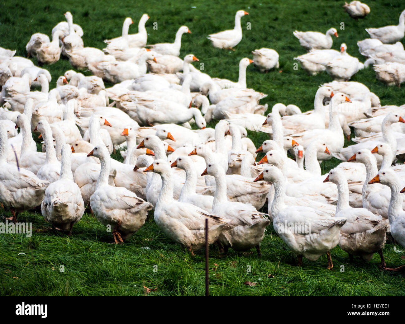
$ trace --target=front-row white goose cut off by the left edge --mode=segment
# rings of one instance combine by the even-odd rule
[[[19,212],[40,205],[48,182],[32,172],[7,163],[7,133],[0,122],[0,203],[8,208],[17,222]]]

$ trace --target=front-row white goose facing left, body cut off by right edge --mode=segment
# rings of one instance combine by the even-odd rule
[[[390,221],[391,235],[399,245],[405,248],[405,212],[402,208],[403,197],[401,193],[405,192],[403,182],[391,169],[381,169],[377,176],[369,181],[369,184],[382,183],[391,189],[390,207],[388,208],[388,220]],[[402,188],[402,189],[401,189]],[[397,268],[383,268],[391,271],[404,271],[405,265]]]

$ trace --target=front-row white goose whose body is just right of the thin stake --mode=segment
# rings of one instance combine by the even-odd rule
[[[247,251],[255,247],[258,256],[261,256],[260,242],[263,240],[266,226],[270,224],[270,220],[266,217],[269,215],[258,212],[250,204],[228,201],[226,175],[219,165],[209,163],[201,175],[205,174],[215,178],[213,213],[226,219],[233,227],[224,231],[219,237],[219,241],[224,246],[224,252],[228,252],[229,247],[235,251]]]

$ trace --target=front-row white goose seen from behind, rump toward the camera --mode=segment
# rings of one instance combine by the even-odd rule
[[[53,228],[69,231],[68,235],[72,235],[73,225],[84,214],[84,203],[79,187],[73,182],[73,174],[70,169],[72,155],[70,145],[64,144],[61,153],[60,177],[45,190],[41,211],[45,220],[50,222]]]

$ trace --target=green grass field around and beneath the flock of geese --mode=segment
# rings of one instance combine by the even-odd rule
[[[261,74],[253,66],[247,69],[247,85],[268,94],[262,103],[269,107],[277,102],[296,104],[301,110],[313,109],[313,96],[318,86],[330,81],[328,74],[309,76],[301,68],[293,70],[293,57],[305,53],[292,32],[316,30],[326,32],[338,29],[339,39],[347,44],[349,54],[364,59],[358,53],[356,42],[367,38],[366,27],[397,24],[405,8],[402,0],[367,1],[371,13],[364,20],[355,21],[343,11],[344,1],[294,1],[273,0],[232,4],[218,2],[173,2],[170,0],[100,3],[49,2],[32,0],[29,3],[7,1],[0,4],[2,37],[0,46],[17,49],[26,56],[25,46],[31,34],[50,35],[53,26],[64,20],[63,14],[71,11],[75,23],[84,30],[85,46],[103,48],[105,38],[119,36],[122,21],[132,17],[136,32],[137,21],[143,13],[150,16],[146,28],[148,43],[173,41],[180,25],[187,25],[192,34],[183,35],[181,57],[193,53],[205,65],[211,76],[237,79],[238,62],[252,57],[251,51],[261,47],[275,49],[280,55],[280,68]],[[211,46],[206,36],[212,32],[232,28],[234,14],[244,9],[249,16],[242,18],[244,36],[236,51],[224,51]],[[153,22],[158,30],[153,30]],[[344,23],[344,30],[340,29]],[[33,59],[37,64],[36,59]],[[61,59],[45,66],[52,75],[51,88],[58,76],[71,68],[69,61]],[[89,72],[83,72],[89,73]],[[403,104],[403,89],[386,87],[375,79],[373,70],[362,70],[352,80],[367,85],[385,104]],[[106,86],[109,86],[106,84]],[[213,126],[213,124],[211,125]],[[249,132],[256,146],[267,139],[266,134]],[[115,156],[117,158],[117,156]],[[332,159],[322,163],[322,172],[337,165]],[[266,209],[266,206],[264,207]],[[9,215],[0,210],[0,213]],[[110,244],[112,234],[92,216],[85,214],[73,228],[73,236],[53,233],[41,214],[25,212],[19,221],[33,222],[33,235],[0,235],[0,294],[13,296],[36,295],[143,295],[144,286],[152,295],[198,296],[204,294],[204,251],[194,258],[178,244],[167,239],[153,222],[153,214],[129,242]],[[210,293],[228,295],[282,295],[282,296],[404,296],[404,277],[378,269],[379,257],[364,263],[348,257],[339,247],[332,250],[335,267],[326,270],[326,256],[316,262],[304,259],[303,267],[296,266],[296,257],[277,237],[270,225],[261,246],[262,257],[256,251],[220,256],[216,247],[210,250]],[[23,252],[23,254],[19,254]],[[403,248],[386,244],[387,266],[403,264]],[[63,266],[63,267],[61,267]],[[344,272],[342,272],[344,266]],[[63,270],[63,271],[62,271]],[[250,271],[249,271],[250,270]],[[254,282],[247,286],[244,282]]]

